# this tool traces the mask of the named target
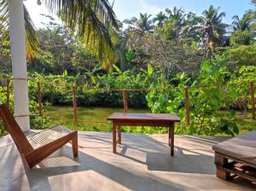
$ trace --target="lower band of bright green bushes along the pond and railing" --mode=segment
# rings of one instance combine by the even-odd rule
[[[197,78],[190,78],[185,72],[177,73],[170,80],[154,67],[148,65],[147,70],[123,72],[114,66],[108,74],[98,73],[93,84],[86,83],[81,76],[72,77],[68,72],[62,75],[29,73],[30,112],[32,128],[44,129],[49,126],[47,117],[38,116],[37,83],[42,82],[43,113],[47,113],[50,105],[72,105],[72,85],[77,85],[77,101],[79,107],[123,107],[121,91],[105,89],[147,89],[148,92],[128,92],[129,107],[148,107],[153,113],[177,113],[185,122],[184,88],[189,86],[190,125],[180,124],[177,133],[191,135],[235,136],[240,132],[241,119],[237,119],[234,109],[250,109],[249,88],[244,85],[256,78],[256,67],[243,66],[238,72],[230,72],[226,66],[226,58],[215,55],[215,61],[205,61]],[[92,86],[90,86],[92,85]],[[4,86],[4,84],[3,84]],[[11,86],[12,87],[12,86]],[[6,88],[0,86],[1,101],[6,101]],[[11,108],[13,97],[11,96]],[[224,111],[222,111],[224,110]],[[80,130],[101,130],[97,124],[84,128],[82,124],[73,124]],[[110,127],[109,127],[110,128]],[[108,128],[108,130],[110,130]],[[125,127],[126,132],[166,133],[166,128]],[[4,134],[3,126],[1,133]]]

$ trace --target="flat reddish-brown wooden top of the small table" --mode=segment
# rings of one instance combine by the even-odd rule
[[[176,114],[169,113],[113,113],[108,120],[180,122]]]

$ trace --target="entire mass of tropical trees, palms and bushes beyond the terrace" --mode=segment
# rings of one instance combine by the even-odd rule
[[[247,111],[252,106],[247,85],[236,84],[256,78],[254,10],[248,10],[241,18],[234,16],[232,32],[223,22],[224,12],[213,6],[201,15],[176,7],[160,12],[154,19],[151,14],[140,14],[139,18],[124,21],[130,27],[121,28],[122,23],[116,21],[107,0],[88,1],[88,6],[82,2],[50,2],[50,12],[61,10],[58,15],[65,27],[46,16],[49,24],[35,32],[25,11],[26,47],[31,50],[28,57],[33,57],[28,61],[33,128],[44,129],[49,124],[49,119],[37,115],[40,81],[44,113],[50,105],[71,106],[73,85],[78,87],[81,107],[123,107],[122,92],[107,89],[152,88],[129,92],[129,107],[148,106],[153,113],[177,113],[183,122],[183,91],[188,86],[191,124],[181,124],[177,133],[239,133],[242,120],[236,118],[233,110]],[[47,8],[51,7],[48,0],[45,3]],[[0,15],[0,76],[5,78],[11,71],[9,31],[4,25],[8,21],[7,0],[1,6],[0,14],[4,15]],[[221,56],[216,55],[217,50]],[[210,61],[205,61],[206,58]],[[5,91],[0,88],[0,101],[5,101]],[[13,97],[11,108],[12,104]],[[97,125],[85,128],[78,124],[73,128],[100,130]],[[3,134],[3,127],[0,129]],[[166,128],[125,127],[125,131],[165,133]]]

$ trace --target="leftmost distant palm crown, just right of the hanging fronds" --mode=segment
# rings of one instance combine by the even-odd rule
[[[140,17],[132,17],[131,20],[124,20],[125,24],[130,25],[133,28],[136,28],[139,32],[153,32],[153,20],[150,20],[151,14],[142,14]]]

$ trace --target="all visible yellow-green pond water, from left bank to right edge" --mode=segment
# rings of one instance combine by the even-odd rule
[[[124,112],[123,108],[109,107],[78,107],[78,123],[73,123],[73,107],[50,107],[46,115],[50,118],[50,125],[63,124],[72,130],[94,130],[94,131],[110,131],[112,124],[107,121],[110,114],[115,112]],[[149,109],[132,109],[130,113],[151,113]],[[223,111],[221,112],[223,113]],[[255,122],[248,120],[248,113],[237,112],[240,120],[238,127],[240,134],[247,131],[255,130]],[[246,120],[245,120],[246,118]],[[99,123],[101,122],[101,123]],[[125,132],[133,133],[166,133],[166,128],[148,128],[148,127],[123,127]],[[186,134],[186,132],[183,132]],[[223,134],[220,134],[223,136]]]

